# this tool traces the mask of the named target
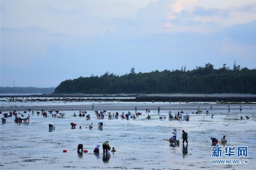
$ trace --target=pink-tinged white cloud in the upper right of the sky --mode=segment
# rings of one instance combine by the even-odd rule
[[[163,23],[164,31],[168,32],[201,32],[209,33],[220,31],[235,24],[249,23],[256,19],[255,8],[244,10],[246,6],[256,5],[255,1],[211,1],[211,0],[177,0],[167,3],[169,6],[166,21]],[[203,13],[195,11],[202,8]],[[185,22],[184,22],[185,21]],[[197,26],[190,23],[200,23]],[[218,26],[216,29],[215,26]]]

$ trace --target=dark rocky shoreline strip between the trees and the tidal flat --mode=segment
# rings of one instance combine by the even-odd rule
[[[41,94],[0,96],[21,101],[121,101],[121,102],[256,102],[255,94]]]

